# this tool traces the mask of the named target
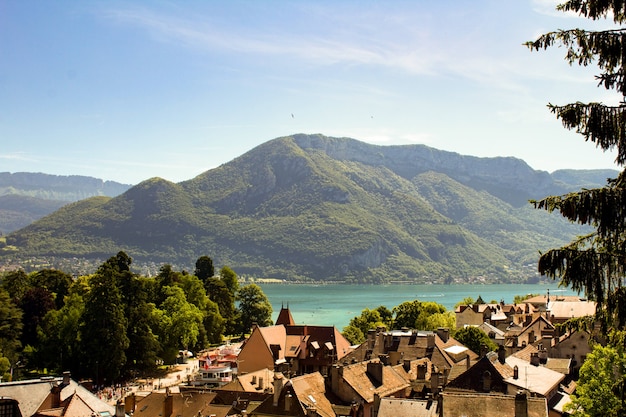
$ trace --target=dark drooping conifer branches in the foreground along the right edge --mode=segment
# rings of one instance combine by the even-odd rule
[[[616,163],[626,162],[626,1],[570,0],[557,10],[574,12],[591,20],[613,20],[608,30],[558,30],[527,42],[531,50],[563,46],[569,64],[595,64],[596,79],[615,92],[614,106],[599,102],[549,104],[563,126],[580,133],[603,151],[617,151]],[[602,188],[583,189],[549,196],[532,203],[536,208],[558,211],[572,222],[594,230],[561,248],[541,254],[538,270],[560,284],[584,294],[597,304],[597,316],[605,327],[626,325],[626,172],[609,179]]]

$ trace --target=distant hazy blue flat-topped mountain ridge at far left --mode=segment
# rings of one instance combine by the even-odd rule
[[[79,175],[0,172],[0,234],[21,229],[68,202],[115,197],[130,187]]]

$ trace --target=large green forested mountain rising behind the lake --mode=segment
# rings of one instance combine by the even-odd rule
[[[516,158],[294,135],[188,181],[152,178],[66,205],[8,235],[1,258],[58,263],[124,250],[143,268],[193,270],[209,255],[241,275],[288,280],[521,280],[538,251],[582,232],[528,200],[611,176],[562,174]]]

